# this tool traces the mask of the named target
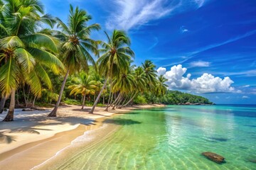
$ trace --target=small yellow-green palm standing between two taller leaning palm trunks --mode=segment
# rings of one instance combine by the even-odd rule
[[[78,95],[82,94],[82,109],[85,106],[85,96],[86,95],[94,95],[95,89],[97,86],[95,85],[95,81],[91,79],[90,76],[87,76],[84,72],[79,74],[79,77],[75,77],[73,79],[77,84],[68,86],[68,89],[72,89],[70,95]]]

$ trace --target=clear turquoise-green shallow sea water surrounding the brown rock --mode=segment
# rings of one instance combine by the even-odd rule
[[[168,106],[106,121],[122,126],[60,169],[256,169],[256,106]]]

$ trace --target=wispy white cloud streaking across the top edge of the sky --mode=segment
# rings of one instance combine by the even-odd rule
[[[123,30],[142,26],[174,12],[200,8],[205,4],[205,0],[114,0],[113,2],[106,27]]]

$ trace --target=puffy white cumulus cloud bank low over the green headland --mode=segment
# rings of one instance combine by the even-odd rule
[[[181,64],[171,67],[166,72],[164,67],[157,69],[158,74],[164,75],[168,79],[167,84],[170,89],[183,89],[195,91],[197,93],[238,93],[231,84],[234,83],[230,77],[221,79],[212,74],[204,73],[201,77],[191,79],[191,74],[186,74],[187,69]]]

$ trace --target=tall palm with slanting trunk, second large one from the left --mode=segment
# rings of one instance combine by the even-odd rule
[[[92,24],[87,26],[87,21],[90,21],[92,16],[88,15],[86,11],[73,8],[70,5],[70,15],[68,17],[68,25],[65,25],[59,18],[57,18],[58,27],[62,31],[55,31],[55,36],[63,40],[61,46],[62,61],[67,68],[63,84],[60,88],[60,94],[55,108],[48,115],[49,117],[56,117],[58,106],[63,95],[65,82],[68,79],[69,74],[80,72],[81,69],[87,71],[89,69],[88,62],[94,64],[94,60],[90,55],[90,52],[97,54],[97,42],[90,39],[90,33],[92,30],[100,30],[99,24]]]

